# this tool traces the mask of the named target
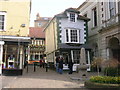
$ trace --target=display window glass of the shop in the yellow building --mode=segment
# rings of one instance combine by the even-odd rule
[[[4,46],[4,51],[3,52],[3,63],[4,63],[4,68],[18,68],[20,65],[20,56],[23,56],[22,54],[20,55],[20,49],[18,48],[18,45],[5,45]]]

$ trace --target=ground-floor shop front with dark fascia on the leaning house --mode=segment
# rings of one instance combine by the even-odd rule
[[[60,44],[60,49],[57,51],[59,54],[62,55],[63,60],[63,69],[68,70],[68,62],[72,60],[73,62],[73,71],[76,71],[77,66],[80,63],[80,50],[81,48],[85,48],[86,52],[86,63],[87,65],[90,65],[90,58],[91,58],[91,47],[89,45],[67,45],[67,44]],[[90,67],[87,69],[87,71],[90,71]]]

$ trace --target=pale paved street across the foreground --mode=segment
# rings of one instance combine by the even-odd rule
[[[89,73],[90,74],[90,73]],[[92,73],[90,74],[92,75]],[[94,74],[95,75],[95,74]],[[69,75],[65,71],[62,75],[54,70],[45,71],[45,68],[37,67],[36,72],[33,67],[29,66],[29,72],[22,76],[3,76],[3,88],[84,88],[83,80],[72,80],[71,78],[79,78],[79,74],[74,72]]]

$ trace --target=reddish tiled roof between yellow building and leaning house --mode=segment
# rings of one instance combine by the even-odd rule
[[[29,28],[29,36],[35,37],[35,38],[45,38],[45,32],[43,32],[43,28],[30,27]]]

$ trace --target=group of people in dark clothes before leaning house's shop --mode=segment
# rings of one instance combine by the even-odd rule
[[[63,73],[63,60],[64,60],[64,58],[61,55],[56,57],[56,72],[58,72],[60,74]],[[72,60],[69,61],[68,68],[69,68],[69,74],[72,74],[72,72],[73,72]]]

